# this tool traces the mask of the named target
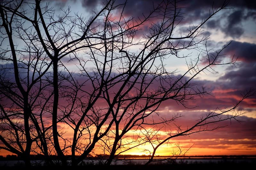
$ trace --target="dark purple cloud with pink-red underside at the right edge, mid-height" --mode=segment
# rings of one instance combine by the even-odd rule
[[[200,108],[228,107],[235,104],[242,95],[250,88],[256,87],[256,64],[240,63],[236,70],[226,70],[226,73],[217,81],[201,80],[199,85],[205,86],[212,96],[200,97],[191,101]],[[243,107],[254,107],[256,96],[251,96],[249,100],[243,102]]]

